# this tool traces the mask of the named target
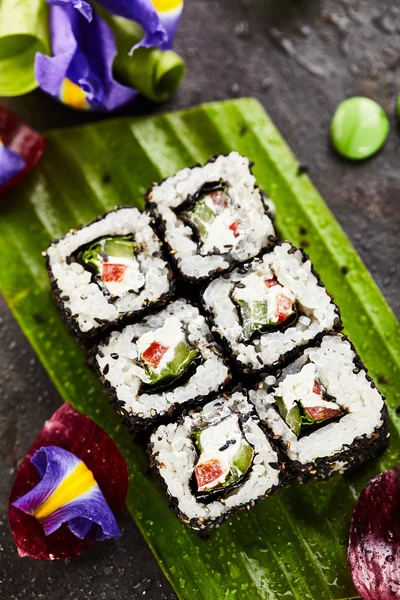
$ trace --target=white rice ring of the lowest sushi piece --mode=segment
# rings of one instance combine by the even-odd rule
[[[221,397],[209,402],[201,411],[186,416],[182,423],[161,425],[151,436],[153,460],[168,493],[177,500],[186,522],[196,519],[199,528],[210,526],[210,521],[265,497],[272,487],[278,485],[279,470],[269,464],[278,462],[277,453],[260,429],[258,419],[251,416],[252,410],[246,397],[236,392],[228,399]],[[242,415],[244,437],[254,448],[253,465],[243,485],[230,491],[222,500],[204,504],[196,498],[190,487],[197,462],[192,432],[218,423],[232,414]]]

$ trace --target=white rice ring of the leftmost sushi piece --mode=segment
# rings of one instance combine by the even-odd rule
[[[150,220],[148,214],[136,208],[121,208],[83,229],[72,230],[48,248],[49,265],[60,296],[68,298],[63,300],[64,309],[69,308],[72,315],[77,315],[76,325],[81,332],[100,327],[96,318],[112,323],[126,313],[140,311],[147,303],[157,302],[168,292],[169,268],[157,256],[161,244],[150,227]],[[67,259],[79,248],[100,237],[130,234],[141,248],[137,261],[143,288],[137,294],[126,293],[110,302],[100,287],[92,282],[92,273],[77,262],[68,264]]]

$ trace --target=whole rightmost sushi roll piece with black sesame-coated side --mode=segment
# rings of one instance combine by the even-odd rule
[[[357,466],[387,443],[384,400],[340,334],[324,336],[260,386],[250,400],[300,480]]]

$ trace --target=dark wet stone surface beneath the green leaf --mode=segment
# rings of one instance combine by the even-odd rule
[[[162,108],[140,101],[119,111],[259,98],[397,314],[399,17],[397,0],[187,0],[176,48],[188,75],[178,94]],[[328,142],[333,110],[351,95],[376,99],[391,121],[385,148],[360,164],[338,158]],[[38,91],[5,103],[39,128],[102,118],[76,114]],[[78,559],[40,564],[17,557],[7,526],[8,492],[18,462],[60,400],[2,301],[0,317],[0,597],[174,598],[127,514],[122,540],[97,544]]]

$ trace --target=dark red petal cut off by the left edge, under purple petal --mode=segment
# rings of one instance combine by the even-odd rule
[[[0,138],[7,148],[19,154],[25,161],[25,168],[0,187],[1,195],[33,169],[44,152],[46,140],[2,104],[0,104]]]

